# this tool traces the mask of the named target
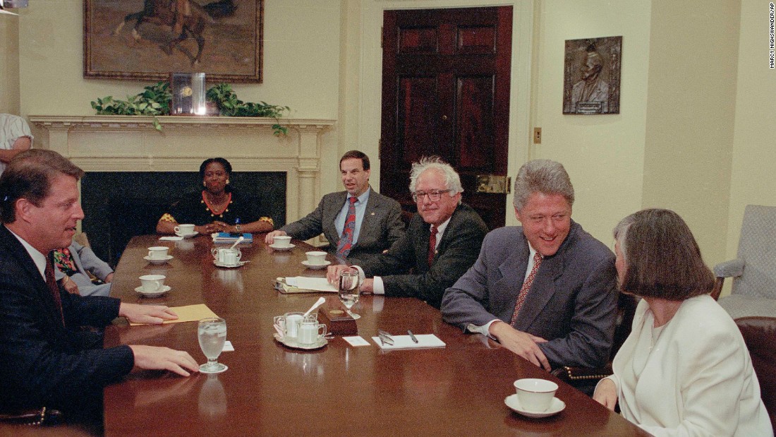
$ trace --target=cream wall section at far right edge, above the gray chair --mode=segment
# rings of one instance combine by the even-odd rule
[[[747,204],[776,206],[776,70],[768,66],[765,0],[741,5],[726,258],[736,258]]]

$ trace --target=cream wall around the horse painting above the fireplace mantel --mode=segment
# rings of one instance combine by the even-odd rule
[[[19,18],[23,115],[90,115],[95,98],[123,99],[151,83],[83,78],[81,0],[30,2]],[[265,0],[264,31],[264,82],[234,84],[240,99],[290,106],[295,118],[336,119],[340,2]],[[338,154],[337,144],[334,127],[322,141],[319,196],[341,186],[331,158]]]

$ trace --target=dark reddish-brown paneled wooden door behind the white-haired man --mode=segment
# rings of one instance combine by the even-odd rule
[[[386,11],[380,192],[416,210],[412,162],[438,155],[461,175],[464,202],[493,229],[506,194],[477,192],[506,177],[512,8]]]

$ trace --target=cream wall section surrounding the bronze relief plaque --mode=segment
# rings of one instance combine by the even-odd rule
[[[530,158],[563,163],[576,192],[573,218],[611,242],[611,229],[642,205],[650,5],[643,0],[546,0],[538,3],[532,126],[542,144]],[[620,113],[563,115],[565,40],[622,36]]]

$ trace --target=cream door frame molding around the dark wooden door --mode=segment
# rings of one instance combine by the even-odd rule
[[[361,7],[361,56],[358,68],[359,119],[357,137],[359,148],[372,157],[372,186],[379,186],[378,141],[382,116],[383,49],[380,37],[383,27],[383,11],[387,9],[442,9],[485,6],[512,6],[512,57],[511,88],[509,95],[509,146],[507,174],[514,178],[521,165],[528,161],[530,147],[533,0],[446,0],[434,2],[421,0],[363,0]],[[464,193],[466,196],[466,193]],[[511,196],[507,196],[506,224],[518,224],[514,217]]]

